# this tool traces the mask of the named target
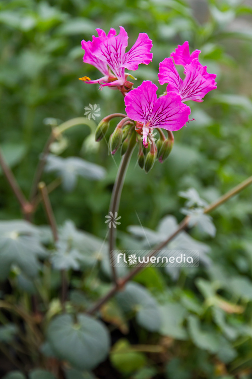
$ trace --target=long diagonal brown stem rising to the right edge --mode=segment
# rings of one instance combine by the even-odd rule
[[[204,213],[209,213],[215,208],[219,207],[223,203],[225,203],[227,200],[229,200],[231,197],[237,195],[239,192],[242,191],[245,187],[247,187],[249,184],[252,183],[252,176],[248,177],[244,181],[242,181],[240,184],[236,185],[234,188],[232,188],[230,191],[228,191],[225,195],[221,196],[218,200],[211,203],[209,206],[207,206],[204,209]],[[190,216],[184,217],[184,219],[179,223],[177,229],[161,244],[159,244],[155,249],[151,251],[149,254],[149,257],[153,257],[156,255],[163,247],[165,247],[170,241],[172,241],[177,234],[179,234],[185,227],[188,227],[188,222],[190,221]],[[109,299],[111,299],[119,288],[123,288],[125,284],[131,280],[139,271],[141,271],[145,265],[136,267],[135,269],[131,270],[127,275],[124,276],[119,282],[114,285],[110,291],[101,299],[97,301],[96,304],[93,305],[92,308],[88,310],[88,314],[93,314],[96,311],[100,309],[100,307],[105,304]]]

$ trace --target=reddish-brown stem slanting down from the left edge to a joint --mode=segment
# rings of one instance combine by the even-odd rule
[[[26,200],[26,198],[25,198],[15,176],[13,175],[12,170],[10,169],[10,167],[8,166],[8,164],[5,161],[5,158],[3,156],[1,149],[0,149],[0,165],[1,165],[3,172],[4,172],[8,182],[12,188],[14,195],[16,196],[17,200],[19,201],[19,203],[21,205],[21,209],[22,209],[23,213],[25,215],[27,215],[28,213],[31,213],[32,206]]]

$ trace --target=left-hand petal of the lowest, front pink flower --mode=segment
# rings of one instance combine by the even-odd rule
[[[127,93],[124,98],[125,111],[132,120],[147,124],[157,101],[157,89],[156,84],[145,80],[139,87]]]

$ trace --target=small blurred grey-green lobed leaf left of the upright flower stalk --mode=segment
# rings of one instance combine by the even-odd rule
[[[105,169],[94,163],[78,157],[61,158],[50,154],[47,158],[45,171],[56,172],[62,179],[66,191],[73,191],[78,175],[92,180],[101,180],[105,176]]]

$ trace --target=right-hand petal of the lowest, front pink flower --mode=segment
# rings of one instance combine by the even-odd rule
[[[179,94],[167,92],[156,101],[153,107],[150,127],[179,130],[188,121],[190,113],[190,107],[181,102]]]

